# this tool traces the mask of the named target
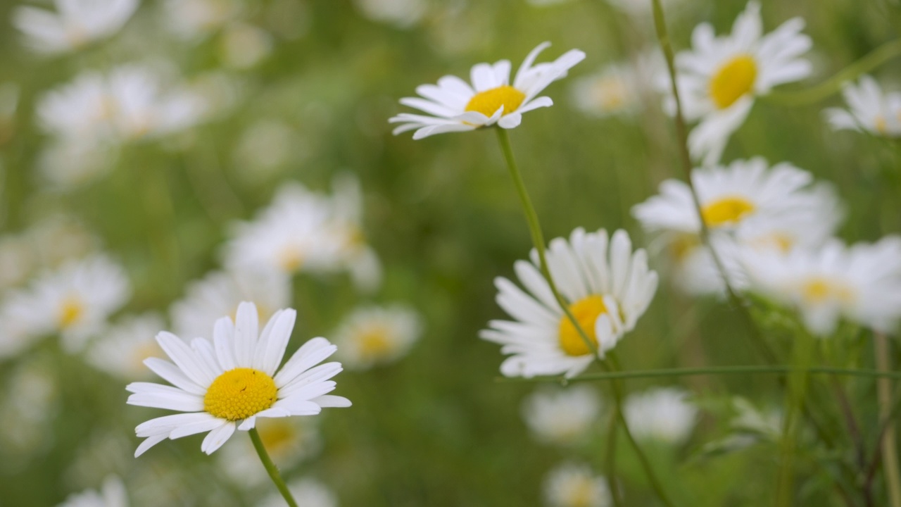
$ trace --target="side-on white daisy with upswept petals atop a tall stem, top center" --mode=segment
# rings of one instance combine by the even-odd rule
[[[423,139],[445,132],[462,132],[477,128],[497,126],[505,129],[519,126],[523,113],[539,107],[553,105],[550,97],[538,97],[557,79],[585,59],[585,53],[570,50],[550,63],[534,64],[538,54],[551,45],[543,42],[532,50],[510,80],[510,61],[499,60],[494,64],[479,63],[472,68],[472,84],[445,76],[437,85],[416,88],[421,97],[405,97],[400,103],[414,107],[427,115],[401,113],[388,122],[399,123],[394,134],[415,130],[414,139]]]

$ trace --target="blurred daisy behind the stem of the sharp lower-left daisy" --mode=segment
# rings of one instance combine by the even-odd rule
[[[322,449],[318,420],[307,417],[257,421],[259,439],[283,474]],[[249,439],[241,438],[224,446],[219,455],[219,464],[235,483],[254,487],[268,482],[266,469],[259,466],[259,456]]]

